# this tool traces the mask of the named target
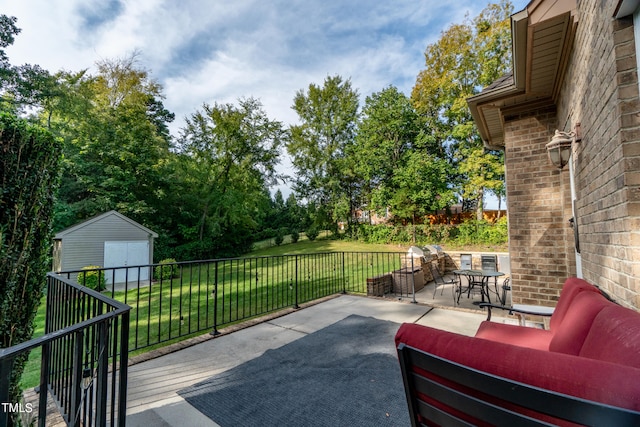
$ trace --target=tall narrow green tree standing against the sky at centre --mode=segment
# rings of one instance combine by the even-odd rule
[[[322,87],[298,91],[292,108],[301,121],[291,126],[287,144],[295,191],[322,208],[316,225],[337,230],[337,221],[345,219],[344,198],[353,192],[353,175],[343,162],[354,143],[358,92],[350,80],[327,77]]]

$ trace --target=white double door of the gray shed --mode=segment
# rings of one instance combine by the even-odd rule
[[[107,283],[123,283],[149,280],[149,267],[133,267],[149,264],[149,242],[104,242],[104,267],[123,267],[107,270]],[[127,268],[128,267],[128,268]]]

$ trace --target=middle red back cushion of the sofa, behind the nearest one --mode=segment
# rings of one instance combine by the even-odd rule
[[[614,303],[600,293],[578,292],[567,308],[562,323],[556,326],[549,350],[576,356],[580,354],[593,319],[610,305]]]

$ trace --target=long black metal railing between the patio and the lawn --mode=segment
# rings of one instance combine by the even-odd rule
[[[406,253],[330,252],[65,271],[132,307],[131,351],[336,293],[366,293],[367,278],[402,267]],[[392,292],[392,290],[389,290]],[[411,290],[403,296],[410,296]],[[399,295],[399,294],[398,294]]]

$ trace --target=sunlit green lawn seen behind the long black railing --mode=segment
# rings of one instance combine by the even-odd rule
[[[261,249],[241,259],[183,264],[176,278],[107,295],[133,307],[134,350],[291,307],[345,286],[351,292],[366,292],[367,277],[399,267],[399,257],[385,254],[391,249],[398,251],[381,245],[305,241]]]

